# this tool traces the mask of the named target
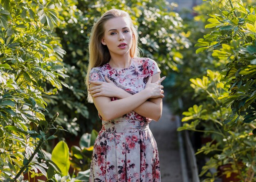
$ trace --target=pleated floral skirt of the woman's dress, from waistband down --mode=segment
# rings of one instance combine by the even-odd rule
[[[103,125],[94,143],[89,182],[161,182],[157,144],[148,123]]]

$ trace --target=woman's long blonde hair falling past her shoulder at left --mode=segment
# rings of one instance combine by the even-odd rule
[[[108,47],[101,44],[101,39],[103,38],[105,32],[104,24],[108,20],[118,17],[125,17],[130,21],[130,29],[133,34],[132,47],[130,48],[130,57],[139,57],[138,33],[132,23],[130,15],[126,11],[119,9],[111,9],[107,11],[92,26],[92,32],[89,41],[89,64],[87,75],[85,78],[85,85],[87,87],[87,90],[89,89],[88,80],[91,69],[94,67],[103,66],[110,61],[110,53]],[[93,102],[92,96],[89,92],[87,99],[89,103]]]

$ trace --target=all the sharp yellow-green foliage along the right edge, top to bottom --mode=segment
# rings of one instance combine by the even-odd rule
[[[229,164],[224,175],[235,172],[241,181],[251,182],[256,179],[253,136],[256,133],[256,8],[239,0],[211,0],[211,3],[219,12],[209,14],[210,23],[205,28],[211,28],[211,32],[198,39],[196,46],[200,48],[196,52],[207,50],[215,59],[226,63],[220,65],[221,72],[207,70],[207,76],[190,79],[200,106],[194,105],[183,113],[182,121],[189,123],[179,130],[211,134],[216,142],[207,143],[197,152],[210,157],[202,168],[201,175],[208,177],[203,181],[218,177],[218,173],[209,172],[211,168]]]

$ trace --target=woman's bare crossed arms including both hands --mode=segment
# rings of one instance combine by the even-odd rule
[[[132,110],[154,121],[159,120],[164,97],[161,83],[165,79],[160,78],[160,73],[149,77],[145,89],[133,95],[117,87],[107,77],[105,79],[107,82],[89,81],[94,105],[104,120],[118,118]],[[110,97],[117,97],[119,100],[111,101]]]

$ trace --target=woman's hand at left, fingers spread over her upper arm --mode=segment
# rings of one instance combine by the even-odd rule
[[[93,97],[97,96],[107,96],[107,97],[118,97],[120,92],[119,87],[115,85],[113,81],[111,81],[106,75],[105,79],[107,82],[104,81],[89,81],[97,86],[90,88],[88,91]],[[122,90],[122,89],[121,89]]]

